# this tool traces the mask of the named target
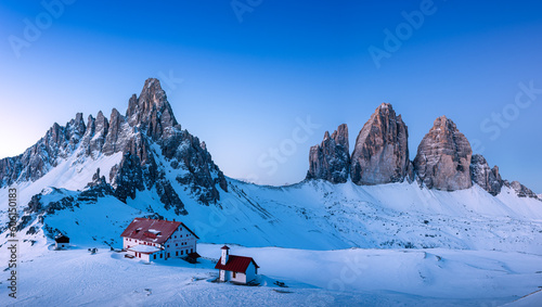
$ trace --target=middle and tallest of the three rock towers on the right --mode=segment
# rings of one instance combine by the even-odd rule
[[[409,177],[409,132],[401,115],[383,103],[356,140],[350,176],[356,184],[401,182]]]

